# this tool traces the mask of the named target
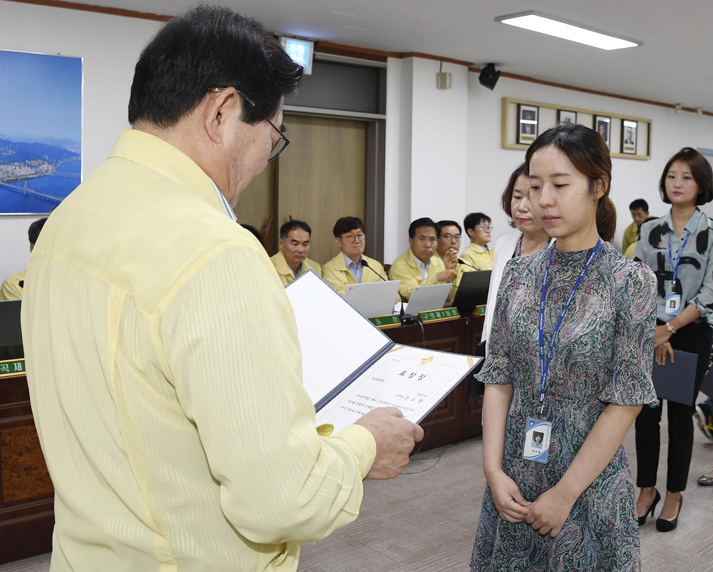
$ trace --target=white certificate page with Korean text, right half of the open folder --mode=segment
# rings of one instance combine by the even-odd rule
[[[341,431],[376,407],[398,407],[420,423],[481,357],[396,346],[317,412],[317,424]]]

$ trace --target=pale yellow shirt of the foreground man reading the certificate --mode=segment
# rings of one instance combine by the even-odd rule
[[[317,435],[277,272],[188,156],[123,131],[27,277],[51,572],[292,572],[356,519],[374,439]]]

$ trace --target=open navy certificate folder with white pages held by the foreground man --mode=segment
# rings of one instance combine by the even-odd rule
[[[302,349],[302,383],[318,424],[334,431],[375,407],[420,422],[481,358],[396,346],[312,270],[285,287]]]

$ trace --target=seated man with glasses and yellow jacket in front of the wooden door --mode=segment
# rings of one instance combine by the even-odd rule
[[[340,218],[334,225],[332,233],[334,233],[334,242],[337,242],[342,252],[322,266],[322,278],[327,284],[344,296],[348,284],[386,280],[386,272],[381,262],[364,256],[366,235],[361,218]]]

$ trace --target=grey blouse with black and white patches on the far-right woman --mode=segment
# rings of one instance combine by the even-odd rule
[[[691,234],[681,255],[676,286],[673,290],[669,241],[675,265],[687,231]],[[699,209],[695,210],[684,226],[682,237],[673,230],[671,211],[661,218],[641,225],[641,233],[634,250],[634,260],[644,262],[657,277],[656,317],[659,320],[663,322],[672,320],[674,316],[665,312],[666,296],[680,294],[681,311],[689,304],[693,304],[701,312],[701,318],[698,320],[706,320],[709,325],[713,325],[712,244],[713,221]]]

